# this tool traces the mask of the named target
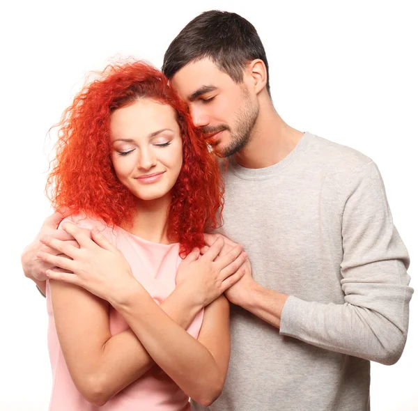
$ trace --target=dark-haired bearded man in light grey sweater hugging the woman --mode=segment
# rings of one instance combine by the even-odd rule
[[[228,157],[221,233],[252,265],[226,291],[231,362],[210,410],[369,410],[370,361],[401,356],[413,292],[376,164],[284,123],[261,40],[235,13],[189,22],[163,70]],[[38,249],[26,249],[24,271],[45,279]]]

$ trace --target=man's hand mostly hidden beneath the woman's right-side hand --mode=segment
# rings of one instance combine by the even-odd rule
[[[233,247],[236,247],[236,243],[229,238],[224,237],[221,234],[205,234],[205,242],[208,245],[207,247],[203,247],[201,252],[206,254],[208,251],[208,247],[212,246],[218,239],[222,238],[224,240],[224,247],[219,252],[218,258],[222,258],[222,256],[231,252]],[[227,288],[224,292],[226,298],[230,302],[236,305],[242,306],[243,303],[247,302],[251,298],[251,293],[258,287],[258,284],[252,278],[252,269],[251,263],[247,258],[245,262],[242,264],[242,269],[244,270],[244,274],[239,279],[239,281],[232,284],[229,288]]]

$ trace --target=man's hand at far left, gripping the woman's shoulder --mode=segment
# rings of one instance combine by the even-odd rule
[[[59,223],[65,218],[70,215],[70,210],[66,212],[54,212],[54,214],[50,215],[45,219],[45,222],[42,224],[38,235],[36,236],[35,240],[31,242],[23,251],[22,253],[22,267],[24,271],[24,275],[33,281],[45,281],[47,279],[46,271],[49,268],[52,268],[52,265],[49,263],[45,263],[44,261],[40,260],[36,257],[38,251],[45,251],[49,254],[59,255],[61,254],[60,251],[51,249],[46,245],[43,245],[40,242],[40,239],[45,235],[49,235],[52,238],[56,238],[58,240],[68,241],[72,245],[75,245],[76,242],[72,235],[65,233],[63,230],[57,230]]]

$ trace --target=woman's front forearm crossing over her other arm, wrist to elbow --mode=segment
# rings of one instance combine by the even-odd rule
[[[188,396],[199,402],[201,398],[219,395],[224,377],[212,354],[183,327],[179,327],[169,311],[160,309],[140,284],[130,298],[123,303],[114,302],[114,307],[125,318],[150,357]],[[185,319],[184,313],[178,309],[177,313]]]

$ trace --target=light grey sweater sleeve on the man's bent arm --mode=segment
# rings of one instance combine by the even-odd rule
[[[394,364],[408,333],[413,290],[408,251],[392,222],[376,164],[364,164],[343,196],[341,224],[344,304],[288,297],[280,334],[320,348]],[[326,275],[326,273],[324,273]]]

